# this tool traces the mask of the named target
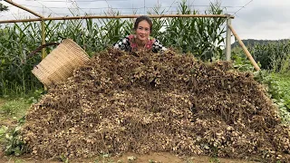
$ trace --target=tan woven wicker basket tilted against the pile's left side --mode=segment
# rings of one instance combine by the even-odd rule
[[[71,39],[65,39],[36,65],[32,72],[40,82],[49,87],[66,81],[73,75],[74,69],[89,61],[89,55],[77,43]]]

